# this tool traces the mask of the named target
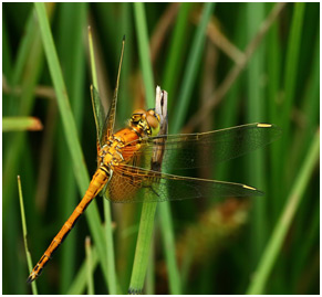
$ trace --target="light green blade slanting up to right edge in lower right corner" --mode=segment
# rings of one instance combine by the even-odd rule
[[[308,155],[304,159],[303,166],[299,171],[299,174],[293,183],[293,188],[288,197],[287,204],[282,211],[279,221],[272,232],[269,243],[266,246],[263,255],[259,262],[259,265],[255,272],[247,294],[260,295],[263,293],[268,277],[272,271],[272,267],[277,261],[277,257],[281,251],[282,244],[285,240],[287,233],[290,229],[292,220],[300,202],[303,198],[304,190],[307,189],[310,177],[314,167],[319,161],[320,152],[320,131],[316,131],[314,139],[311,142]]]

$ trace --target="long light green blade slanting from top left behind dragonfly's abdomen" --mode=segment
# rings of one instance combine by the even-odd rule
[[[63,129],[71,152],[74,173],[77,180],[80,192],[85,193],[90,183],[90,178],[85,168],[84,157],[77,138],[76,125],[73,119],[71,106],[69,103],[66,88],[64,85],[55,46],[46,19],[45,8],[43,3],[38,2],[35,3],[35,9],[39,18],[45,55],[48,59],[50,73],[58,97],[59,109],[62,116]],[[104,276],[107,279],[108,277],[106,267],[105,237],[103,233],[103,227],[101,226],[100,214],[95,201],[91,203],[85,212],[85,215],[89,221],[91,234],[94,238],[95,245],[97,246],[97,252],[100,255]]]

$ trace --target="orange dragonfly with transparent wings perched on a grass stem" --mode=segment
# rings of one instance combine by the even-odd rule
[[[128,126],[114,132],[122,44],[116,87],[105,116],[98,92],[91,86],[96,126],[97,169],[83,199],[37,263],[27,282],[42,273],[53,253],[74,227],[91,201],[101,193],[112,202],[162,202],[215,197],[253,197],[262,192],[253,187],[227,181],[167,173],[173,169],[193,169],[226,161],[261,148],[281,134],[276,125],[248,124],[208,132],[160,135],[160,115],[154,109],[137,109]],[[162,171],[152,166],[150,156],[160,152]],[[159,165],[160,167],[160,165]]]

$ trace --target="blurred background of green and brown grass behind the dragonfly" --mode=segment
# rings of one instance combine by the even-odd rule
[[[43,125],[40,131],[21,131],[17,124],[2,134],[2,293],[29,294],[17,176],[33,264],[83,192],[65,141],[39,14],[31,3],[2,8],[2,129],[4,117],[35,117]],[[106,107],[126,35],[116,127],[123,127],[135,108],[153,102],[150,94],[160,85],[168,92],[172,131],[256,121],[277,124],[283,130],[268,148],[193,172],[252,184],[266,195],[170,203],[172,230],[160,227],[162,215],[155,220],[145,293],[319,294],[320,4],[56,3],[46,8],[90,176],[96,168],[96,134],[89,24]],[[146,25],[149,42],[145,56],[139,53],[141,25]],[[142,76],[144,63],[153,67],[149,84]],[[96,203],[103,220],[101,197]],[[112,204],[117,293],[128,289],[141,209],[141,204]],[[172,265],[163,242],[167,232],[174,233],[176,246]],[[83,219],[37,282],[40,294],[87,293],[86,235],[93,234]],[[95,293],[111,291],[95,251],[92,261]],[[174,266],[179,272],[176,282]]]

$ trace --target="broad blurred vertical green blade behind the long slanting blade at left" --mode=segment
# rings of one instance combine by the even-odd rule
[[[84,28],[87,23],[86,3],[61,3],[59,18],[59,39],[58,51],[66,88],[69,91],[71,107],[75,118],[77,130],[82,130],[84,118],[84,83],[85,83],[85,46]],[[86,97],[89,98],[89,96]],[[80,138],[82,134],[80,134]],[[58,204],[60,208],[61,222],[74,210],[77,204],[79,193],[75,183],[73,168],[66,166],[70,162],[70,156],[66,153],[67,145],[64,138],[62,125],[58,127]],[[66,199],[67,198],[67,199]],[[76,271],[76,232],[69,235],[64,242],[61,253],[60,266],[60,293],[65,294],[72,283]]]

